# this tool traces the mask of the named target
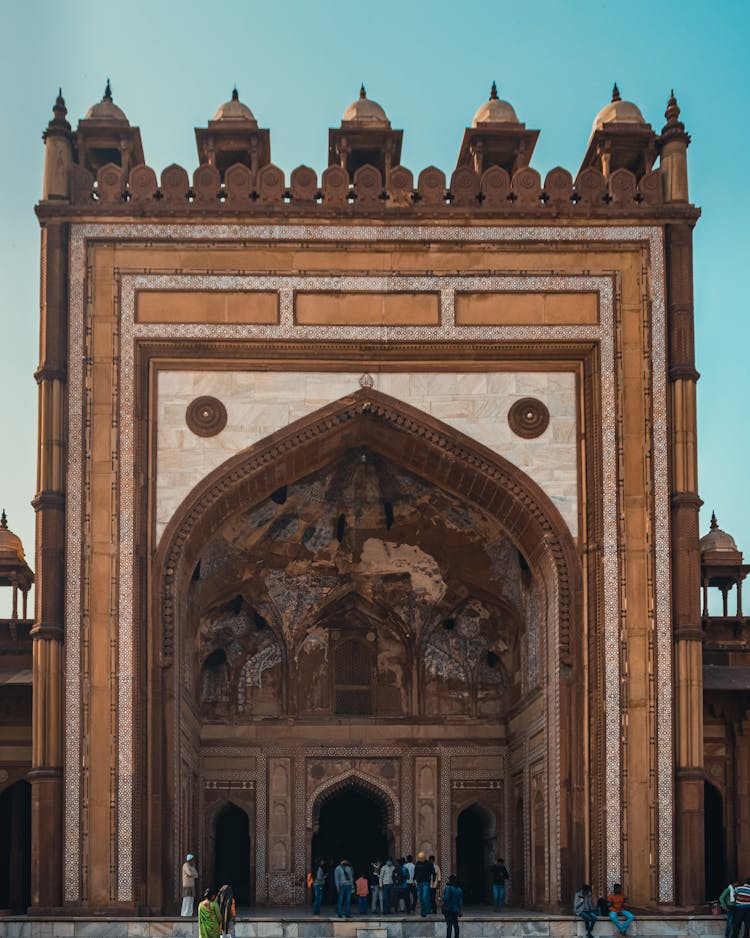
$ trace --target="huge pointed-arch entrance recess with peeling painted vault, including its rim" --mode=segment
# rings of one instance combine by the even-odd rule
[[[582,723],[571,718],[583,687],[579,561],[555,506],[502,457],[408,405],[357,392],[206,477],[164,532],[154,584],[150,634],[163,663],[154,699],[164,709],[151,725],[157,733],[197,727],[186,756],[207,788],[216,756],[230,752],[217,741],[232,739],[227,768],[247,776],[259,799],[258,904],[304,901],[313,848],[336,860],[353,854],[355,863],[390,852],[382,808],[380,821],[367,822],[380,834],[362,844],[362,855],[334,839],[354,796],[322,811],[334,795],[327,788],[319,797],[320,786],[342,773],[387,779],[389,812],[389,798],[409,804],[404,849],[450,855],[460,834],[467,900],[480,901],[497,849],[489,846],[494,822],[470,811],[460,832],[452,826],[474,796],[451,782],[481,765],[479,791],[509,784],[502,750],[523,751],[540,716],[550,751],[574,755],[541,766],[550,773],[545,799],[560,795],[560,824],[549,825],[545,844],[551,888],[535,898],[529,858],[527,901],[558,901],[581,879]],[[548,649],[564,669],[550,668]],[[528,720],[507,723],[511,712],[553,699],[553,709],[544,704],[541,715],[537,707]],[[507,732],[496,731],[502,725]],[[457,726],[463,751],[444,758],[439,747],[455,746]],[[182,729],[178,735],[187,739]],[[169,841],[175,815],[188,826],[191,818],[175,750],[162,743],[152,785],[171,814],[149,841],[162,870],[149,878],[155,888],[177,881],[170,858],[181,851]],[[530,794],[523,792],[525,804]],[[361,807],[361,792],[359,800]],[[301,811],[310,812],[306,831]],[[400,836],[395,813],[388,823]],[[193,817],[203,823],[200,811]],[[514,830],[511,818],[503,836],[529,832]],[[210,835],[188,829],[184,838]],[[471,874],[477,846],[481,863]]]

